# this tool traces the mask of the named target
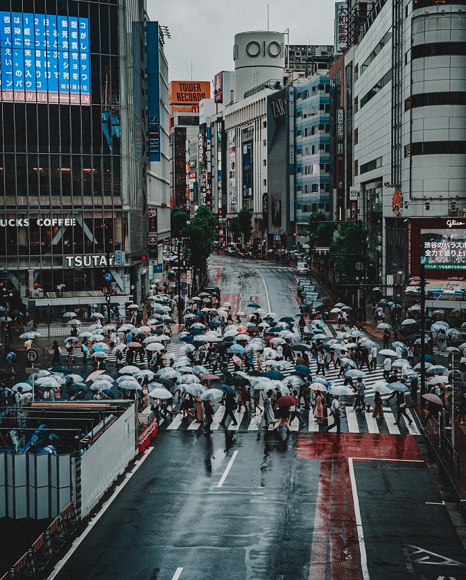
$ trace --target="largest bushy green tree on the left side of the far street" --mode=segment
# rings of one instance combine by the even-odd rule
[[[191,249],[191,264],[195,270],[203,270],[207,266],[207,258],[214,248],[216,225],[217,218],[209,207],[200,205],[182,230],[187,248]]]

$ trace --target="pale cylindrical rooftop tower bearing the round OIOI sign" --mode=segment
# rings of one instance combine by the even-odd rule
[[[286,45],[283,33],[242,32],[234,37],[234,95],[244,99],[246,91],[268,80],[283,81]]]

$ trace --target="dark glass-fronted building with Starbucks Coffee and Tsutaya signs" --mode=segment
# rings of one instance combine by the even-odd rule
[[[139,298],[144,1],[3,0],[0,27],[0,266],[15,298],[103,289],[108,267]]]

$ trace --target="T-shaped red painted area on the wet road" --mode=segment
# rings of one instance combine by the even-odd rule
[[[422,461],[415,439],[406,435],[318,433],[299,437],[296,454],[298,459],[321,461],[309,580],[361,580],[348,457]]]

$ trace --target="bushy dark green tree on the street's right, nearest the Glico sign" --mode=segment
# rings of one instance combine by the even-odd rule
[[[354,280],[359,273],[355,264],[363,262],[367,248],[368,230],[361,223],[348,220],[340,225],[338,234],[330,245],[331,263],[340,274],[340,282]]]

